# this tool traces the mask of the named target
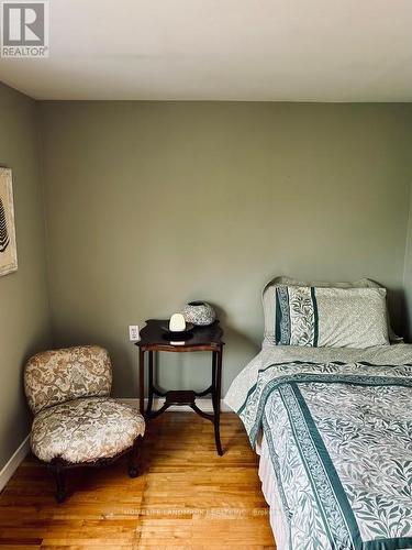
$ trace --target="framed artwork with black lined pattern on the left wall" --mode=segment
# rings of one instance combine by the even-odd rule
[[[11,169],[0,168],[0,276],[15,272],[16,268],[18,250]]]

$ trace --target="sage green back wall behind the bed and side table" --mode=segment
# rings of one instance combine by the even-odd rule
[[[218,307],[224,391],[263,336],[275,275],[371,277],[401,306],[411,105],[43,102],[56,345],[100,342],[115,394],[136,396],[127,324],[186,300]],[[203,386],[205,356],[160,384]]]

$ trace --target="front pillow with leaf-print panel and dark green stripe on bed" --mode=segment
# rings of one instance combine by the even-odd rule
[[[385,288],[275,287],[275,343],[388,345]]]

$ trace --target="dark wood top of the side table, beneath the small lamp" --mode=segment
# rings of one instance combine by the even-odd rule
[[[220,348],[224,344],[222,341],[223,330],[219,321],[207,327],[194,327],[188,336],[185,336],[185,339],[174,337],[172,340],[170,333],[163,328],[167,327],[168,323],[168,319],[148,319],[146,326],[141,330],[141,340],[136,342],[136,345],[145,350],[202,351]]]

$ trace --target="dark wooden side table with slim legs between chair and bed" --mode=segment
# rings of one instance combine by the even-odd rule
[[[194,327],[191,338],[185,342],[172,342],[167,340],[165,330],[162,326],[167,326],[168,321],[149,319],[146,326],[141,330],[141,340],[136,342],[138,346],[138,371],[140,371],[140,408],[141,414],[146,420],[156,418],[172,405],[187,405],[202,418],[210,420],[214,426],[214,441],[216,451],[220,455],[223,454],[220,439],[220,413],[221,413],[221,383],[222,383],[222,341],[223,330],[219,321],[215,321],[209,327]],[[144,371],[145,371],[145,352],[148,352],[148,403],[147,410],[144,410]],[[211,351],[212,352],[212,383],[203,392],[193,392],[192,389],[175,389],[171,392],[160,392],[153,380],[154,352],[190,352],[190,351]],[[207,414],[201,410],[197,404],[197,397],[212,396],[213,414]],[[166,400],[160,409],[153,411],[154,396],[165,397]]]

